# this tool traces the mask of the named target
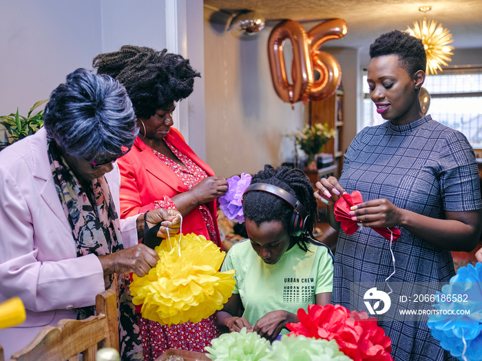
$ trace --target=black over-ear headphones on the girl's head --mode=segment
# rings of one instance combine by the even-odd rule
[[[302,234],[306,233],[306,228],[308,227],[308,224],[310,224],[310,215],[308,215],[308,212],[306,212],[304,206],[296,199],[296,197],[286,192],[286,190],[283,188],[267,183],[251,184],[251,186],[244,190],[243,197],[246,195],[246,193],[249,193],[253,190],[271,193],[272,195],[280,197],[281,199],[284,199],[284,201],[288,202],[290,206],[293,207],[293,215],[291,216],[291,220],[288,225],[289,235],[292,237],[300,237]]]

